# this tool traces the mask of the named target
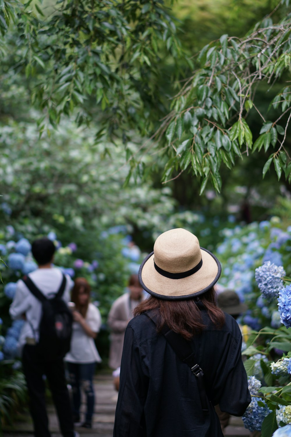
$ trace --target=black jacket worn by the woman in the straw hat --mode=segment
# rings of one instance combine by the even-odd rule
[[[192,346],[211,405],[203,416],[195,375],[144,314],[125,332],[113,437],[223,437],[213,408],[242,416],[251,398],[241,359],[242,336],[225,314],[222,329],[202,310],[206,328]]]

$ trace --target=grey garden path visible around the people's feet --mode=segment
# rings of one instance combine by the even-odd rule
[[[114,413],[117,401],[117,392],[113,388],[113,378],[108,374],[99,374],[94,380],[96,392],[95,414],[91,430],[76,427],[80,434],[86,437],[112,437]],[[82,406],[83,411],[84,406]],[[61,437],[58,422],[53,406],[48,406],[48,416],[52,437]],[[26,422],[15,422],[13,427],[3,430],[3,437],[29,437],[33,435],[30,418]],[[231,417],[230,425],[225,430],[227,437],[247,437],[249,432],[243,427],[240,418]],[[139,437],[139,436],[136,436]],[[177,436],[183,437],[183,436]]]

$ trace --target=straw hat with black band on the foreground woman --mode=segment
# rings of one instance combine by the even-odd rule
[[[138,278],[144,290],[157,298],[186,299],[209,290],[220,273],[219,260],[199,246],[195,235],[178,228],[157,237]]]

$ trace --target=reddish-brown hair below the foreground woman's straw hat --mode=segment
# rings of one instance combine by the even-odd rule
[[[205,328],[198,301],[202,302],[212,323],[222,328],[225,321],[223,311],[216,306],[216,291],[212,287],[197,298],[185,300],[166,300],[150,296],[134,309],[134,316],[149,311],[157,311],[157,331],[161,331],[166,323],[170,329],[190,340],[196,333]]]

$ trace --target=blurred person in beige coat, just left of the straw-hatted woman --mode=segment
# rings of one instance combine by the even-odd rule
[[[127,288],[127,293],[113,302],[108,316],[108,325],[111,329],[109,366],[112,369],[120,367],[127,323],[133,318],[135,307],[144,299],[143,288],[138,281],[137,274],[130,276]]]

